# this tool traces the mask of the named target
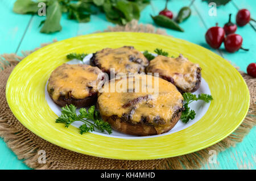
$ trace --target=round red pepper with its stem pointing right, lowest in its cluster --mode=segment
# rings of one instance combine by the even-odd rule
[[[231,53],[236,52],[239,49],[248,51],[249,49],[242,48],[242,42],[242,36],[237,34],[228,35],[224,40],[225,49]]]

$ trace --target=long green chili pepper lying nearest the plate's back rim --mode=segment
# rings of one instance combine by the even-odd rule
[[[154,20],[155,24],[158,24],[159,26],[184,32],[184,30],[179,26],[179,24],[177,24],[174,20],[167,18],[166,16],[163,16],[163,15],[152,16],[151,15],[151,18]]]

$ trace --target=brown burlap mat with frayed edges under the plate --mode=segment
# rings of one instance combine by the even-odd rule
[[[155,30],[149,24],[137,24],[135,21],[127,24],[125,27],[109,27],[106,31],[139,31],[166,35],[164,31]],[[42,46],[44,45],[47,44],[43,44]],[[5,87],[7,78],[15,65],[31,52],[23,52],[24,56],[3,54],[1,57],[0,64],[2,64],[4,70],[0,72],[0,136],[3,137],[6,144],[14,151],[17,157],[24,159],[24,163],[33,169],[200,169],[201,166],[204,166],[208,162],[208,158],[210,157],[209,150],[216,150],[217,153],[220,153],[220,151],[230,146],[235,146],[237,142],[243,140],[243,137],[245,137],[256,122],[256,79],[240,71],[250,91],[251,102],[249,113],[236,131],[209,148],[195,153],[181,155],[180,157],[149,161],[124,161],[75,153],[53,145],[23,127],[14,117],[6,102]],[[45,164],[38,163],[38,150],[46,151]]]

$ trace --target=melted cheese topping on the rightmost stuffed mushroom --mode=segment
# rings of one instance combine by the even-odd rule
[[[195,87],[197,81],[197,68],[180,54],[177,58],[157,56],[150,61],[147,72],[158,72],[162,76],[172,77],[177,87],[189,89]]]

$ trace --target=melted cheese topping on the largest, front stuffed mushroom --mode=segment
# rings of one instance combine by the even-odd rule
[[[114,83],[115,91],[110,92]],[[104,85],[104,92],[98,96],[98,105],[102,115],[122,117],[127,114],[132,123],[138,123],[143,117],[152,124],[155,124],[154,119],[168,123],[174,112],[183,107],[183,97],[172,83],[151,75],[137,74]]]

